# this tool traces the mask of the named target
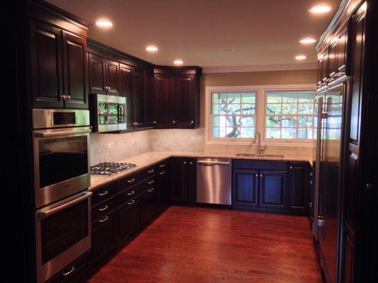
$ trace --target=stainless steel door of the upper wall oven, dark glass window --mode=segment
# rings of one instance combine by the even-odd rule
[[[90,186],[89,127],[33,131],[35,207]]]

